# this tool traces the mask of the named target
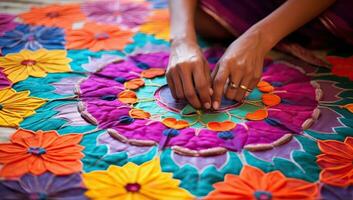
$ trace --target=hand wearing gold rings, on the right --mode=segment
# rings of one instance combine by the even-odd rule
[[[226,50],[212,72],[212,107],[218,109],[223,94],[241,101],[259,82],[264,56],[271,47],[260,31],[249,29]],[[227,84],[227,85],[226,85]]]

